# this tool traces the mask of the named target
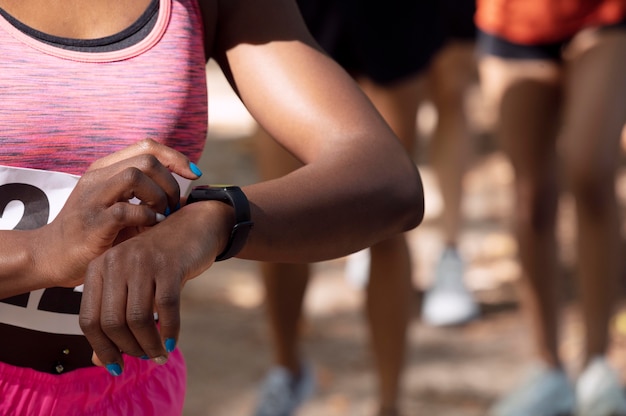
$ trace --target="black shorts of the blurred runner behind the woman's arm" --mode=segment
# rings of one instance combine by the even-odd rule
[[[353,76],[389,84],[425,70],[444,43],[438,0],[298,0],[313,37]]]

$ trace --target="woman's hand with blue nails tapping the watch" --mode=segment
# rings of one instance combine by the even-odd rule
[[[95,162],[79,180],[59,215],[41,229],[39,267],[51,273],[50,286],[82,283],[91,260],[133,227],[156,224],[179,204],[171,172],[196,179],[199,170],[181,153],[143,140]],[[132,198],[141,204],[129,202]]]

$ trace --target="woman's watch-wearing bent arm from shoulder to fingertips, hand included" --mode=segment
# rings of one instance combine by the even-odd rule
[[[254,228],[239,257],[313,262],[417,226],[424,202],[415,164],[350,76],[319,51],[295,2],[201,5],[209,57],[304,163],[244,188]],[[112,374],[122,371],[120,351],[166,361],[180,329],[180,289],[224,250],[233,222],[228,205],[197,202],[91,262],[80,324]]]

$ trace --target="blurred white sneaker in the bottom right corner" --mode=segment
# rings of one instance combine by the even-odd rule
[[[619,378],[603,357],[592,359],[576,383],[577,416],[626,416]]]

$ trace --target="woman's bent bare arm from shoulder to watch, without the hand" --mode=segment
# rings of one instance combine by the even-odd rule
[[[415,164],[288,0],[221,1],[215,58],[254,118],[305,163],[246,187],[255,227],[240,257],[317,261],[417,226]]]

